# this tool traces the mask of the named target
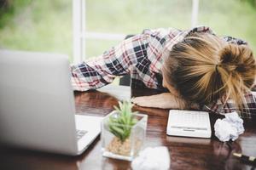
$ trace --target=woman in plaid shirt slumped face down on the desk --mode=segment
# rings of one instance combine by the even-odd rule
[[[101,88],[131,74],[131,86],[168,92],[132,99],[146,107],[256,114],[256,61],[247,42],[206,26],[145,30],[96,59],[72,66],[74,90]]]

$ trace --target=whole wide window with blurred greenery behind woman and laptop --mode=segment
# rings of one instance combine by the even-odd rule
[[[197,25],[210,26],[220,36],[241,37],[256,54],[256,7],[251,0],[0,0],[0,48],[68,54],[73,61],[73,12],[78,12],[73,4],[83,1],[79,10],[84,8],[86,20],[74,18],[80,25],[85,21],[80,28],[86,31],[85,44],[79,44],[86,58],[145,28],[188,29],[191,18],[196,19],[196,3]]]

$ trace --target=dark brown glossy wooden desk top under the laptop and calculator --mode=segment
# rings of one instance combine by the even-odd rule
[[[105,88],[102,93],[92,91],[76,93],[76,109],[82,115],[105,116],[117,105],[116,98],[124,98],[127,88]],[[123,92],[123,93],[122,93]],[[148,89],[134,89],[131,96],[157,94]],[[111,95],[113,94],[113,95]],[[114,96],[114,97],[113,97]],[[130,97],[130,96],[129,96]],[[166,135],[168,111],[136,106],[134,110],[148,114],[146,146],[165,145],[170,150],[172,169],[251,169],[232,156],[233,152],[243,152],[256,156],[256,123],[246,120],[246,132],[230,146],[212,139],[178,138]],[[218,117],[211,114],[211,122]],[[253,123],[254,121],[254,123]],[[119,161],[102,157],[100,137],[81,156],[60,156],[29,150],[0,150],[0,169],[131,169],[129,161]]]

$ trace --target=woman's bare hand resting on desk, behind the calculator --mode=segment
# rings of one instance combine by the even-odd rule
[[[161,109],[184,109],[186,106],[186,102],[183,99],[177,98],[170,93],[132,98],[131,102],[143,107]]]

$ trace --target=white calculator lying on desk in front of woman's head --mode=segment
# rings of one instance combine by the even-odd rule
[[[170,110],[166,133],[172,136],[211,138],[209,113],[206,111]]]

